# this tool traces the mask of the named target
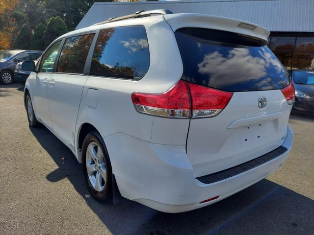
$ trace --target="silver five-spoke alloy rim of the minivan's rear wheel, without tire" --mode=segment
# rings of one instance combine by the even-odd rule
[[[90,184],[96,191],[103,191],[106,182],[104,153],[96,142],[90,142],[86,150],[86,171]]]

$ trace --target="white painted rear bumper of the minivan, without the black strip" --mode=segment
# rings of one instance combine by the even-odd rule
[[[288,127],[282,145],[287,151],[283,154],[230,178],[204,184],[194,178],[184,145],[153,144],[124,134],[119,137],[124,140],[118,140],[114,136],[105,138],[105,142],[121,195],[158,211],[171,213],[208,206],[257,183],[287,160],[293,141],[293,132]],[[123,142],[123,146],[114,146],[119,142]],[[111,148],[119,150],[114,153]],[[125,152],[128,148],[134,153],[130,150]],[[216,196],[219,197],[200,204]]]

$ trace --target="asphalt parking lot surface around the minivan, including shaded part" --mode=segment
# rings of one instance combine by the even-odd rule
[[[86,198],[71,151],[45,127],[28,127],[19,84],[1,85],[0,234],[313,235],[314,118],[289,123],[295,139],[277,172],[216,204],[167,214]]]

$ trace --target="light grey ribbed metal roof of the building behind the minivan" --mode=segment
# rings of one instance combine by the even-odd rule
[[[314,0],[183,0],[97,2],[76,29],[139,10],[169,9],[173,13],[204,13],[252,22],[270,31],[314,32]]]

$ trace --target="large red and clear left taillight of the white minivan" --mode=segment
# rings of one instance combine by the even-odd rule
[[[143,114],[165,118],[206,118],[218,115],[232,94],[180,80],[162,94],[133,93],[132,102]]]

